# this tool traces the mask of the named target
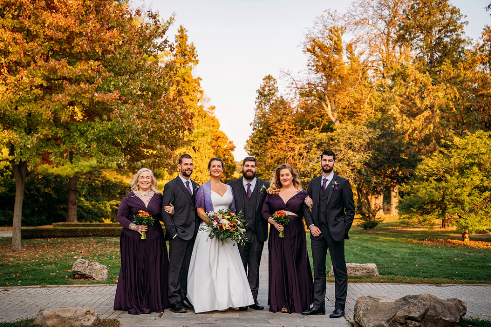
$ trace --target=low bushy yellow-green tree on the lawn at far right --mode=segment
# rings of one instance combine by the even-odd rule
[[[434,219],[452,219],[462,240],[491,225],[491,133],[456,137],[425,158],[402,188],[405,218],[431,227]]]

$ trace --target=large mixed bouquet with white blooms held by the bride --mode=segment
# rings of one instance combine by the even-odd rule
[[[238,244],[244,244],[247,241],[242,211],[235,214],[230,209],[222,209],[217,212],[210,211],[206,214],[208,222],[205,222],[205,224],[210,228],[210,234],[208,234],[210,239],[216,237],[222,245],[225,244],[228,238]]]

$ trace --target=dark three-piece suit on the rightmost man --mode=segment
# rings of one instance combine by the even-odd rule
[[[315,277],[313,306],[325,310],[326,255],[329,249],[335,278],[334,309],[344,311],[348,293],[344,240],[348,239],[348,231],[355,213],[353,192],[349,181],[336,174],[326,191],[322,190],[321,182],[322,176],[312,178],[307,190],[313,201],[312,213],[304,206],[307,226],[314,224],[321,231],[317,237],[310,235]]]

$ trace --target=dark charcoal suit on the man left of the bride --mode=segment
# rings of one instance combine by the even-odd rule
[[[162,218],[165,224],[165,237],[169,241],[169,301],[171,304],[187,297],[187,270],[189,268],[193,245],[199,222],[195,208],[198,183],[191,181],[193,196],[177,176],[166,183],[162,197]],[[170,215],[163,206],[172,203],[175,213]],[[173,239],[174,235],[177,236]]]

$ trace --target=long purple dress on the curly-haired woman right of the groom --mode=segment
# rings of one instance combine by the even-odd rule
[[[278,210],[297,214],[290,215],[290,223],[284,229],[285,238],[280,238],[278,230],[270,227],[268,305],[272,312],[287,308],[290,313],[301,313],[310,309],[314,300],[314,283],[302,220],[306,196],[307,193],[301,191],[285,203],[279,195],[268,194],[262,206],[262,217],[266,220]]]

